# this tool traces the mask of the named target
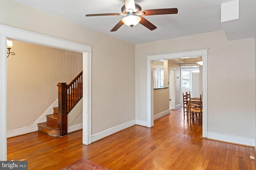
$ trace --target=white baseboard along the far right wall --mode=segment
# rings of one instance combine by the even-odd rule
[[[208,132],[207,138],[214,139],[218,141],[225,141],[230,143],[237,143],[241,145],[248,145],[255,147],[255,139],[247,138],[247,137],[240,137],[240,136],[234,136],[234,135],[226,135],[226,134],[220,134],[215,132]]]

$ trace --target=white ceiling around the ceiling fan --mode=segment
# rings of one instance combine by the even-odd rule
[[[178,14],[144,16],[156,25],[153,31],[138,24],[134,27],[122,25],[114,32],[110,30],[124,16],[85,15],[122,13],[124,0],[14,1],[133,44],[218,30],[224,30],[228,40],[254,38],[256,35],[256,0],[239,0],[239,19],[225,22],[220,21],[221,4],[232,0],[135,0],[142,10],[178,8]]]

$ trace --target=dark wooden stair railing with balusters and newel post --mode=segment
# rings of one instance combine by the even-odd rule
[[[68,85],[58,83],[58,127],[60,136],[68,134],[68,113],[76,106],[83,96],[83,71],[81,71]]]

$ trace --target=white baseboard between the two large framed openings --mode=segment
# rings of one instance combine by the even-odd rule
[[[109,135],[112,135],[112,134],[114,134],[114,133],[116,133],[116,132],[118,132],[118,131],[121,131],[121,130],[126,129],[126,128],[128,128],[128,127],[131,127],[131,126],[133,126],[133,125],[135,125],[135,124],[136,124],[136,121],[135,121],[135,120],[132,120],[132,121],[123,123],[123,124],[121,124],[121,125],[117,125],[117,126],[115,126],[115,127],[111,127],[111,128],[109,128],[109,129],[106,129],[106,130],[101,131],[101,132],[99,132],[99,133],[93,134],[93,135],[92,135],[92,142],[98,141],[99,139],[102,139],[102,138],[104,138],[104,137],[107,137],[107,136],[109,136]]]

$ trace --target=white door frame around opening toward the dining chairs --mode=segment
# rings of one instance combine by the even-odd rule
[[[181,51],[176,53],[165,53],[147,56],[147,127],[154,126],[153,61],[202,56],[202,61],[204,62],[202,66],[202,92],[204,94],[204,116],[202,123],[202,137],[207,137],[207,55],[208,49],[198,49],[193,51]]]

